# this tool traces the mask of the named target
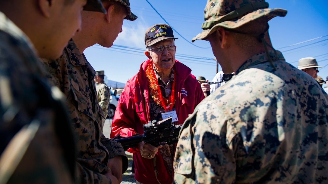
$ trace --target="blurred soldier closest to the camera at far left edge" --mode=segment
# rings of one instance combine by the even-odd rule
[[[86,2],[0,1],[0,183],[74,181],[64,96],[47,83],[38,57],[61,55],[81,26]],[[84,8],[105,11],[98,0]]]

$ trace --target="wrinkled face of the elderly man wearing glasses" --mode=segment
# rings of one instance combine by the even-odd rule
[[[152,48],[155,48],[157,46],[164,46],[164,49],[162,52],[156,52],[155,49],[148,51],[151,57],[151,60],[153,60],[155,67],[159,69],[160,71],[166,71],[171,70],[174,63],[175,63],[175,50],[176,46],[174,46],[173,50],[168,50],[167,45],[173,44],[173,39],[166,39],[163,41],[160,41],[152,46]]]

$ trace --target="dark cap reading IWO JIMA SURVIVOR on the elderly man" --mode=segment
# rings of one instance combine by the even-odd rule
[[[155,24],[146,30],[145,45],[152,46],[169,38],[178,39],[174,37],[172,28],[167,24]]]

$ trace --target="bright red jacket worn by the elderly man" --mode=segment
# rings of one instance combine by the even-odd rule
[[[151,62],[149,59],[143,62],[139,72],[126,83],[116,107],[111,138],[118,134],[121,134],[122,137],[129,137],[136,133],[143,134],[142,125],[150,120],[149,88],[148,79],[145,75],[145,68],[149,62]],[[175,60],[173,68],[176,71],[175,89],[177,89],[174,108],[178,116],[178,123],[182,124],[205,97],[200,84],[195,76],[190,73],[189,67]],[[130,148],[128,151],[133,153],[135,179],[145,184],[157,184],[152,159],[142,157],[137,148]],[[173,183],[172,173],[169,172],[160,153],[157,152],[155,157],[157,172],[159,173],[157,175],[158,180],[162,184]]]

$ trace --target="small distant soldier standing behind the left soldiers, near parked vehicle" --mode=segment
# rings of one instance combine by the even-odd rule
[[[102,118],[102,123],[100,124],[101,131],[103,131],[105,120],[108,116],[108,105],[111,97],[111,90],[108,88],[107,84],[105,83],[104,77],[105,77],[105,71],[98,70],[96,71],[96,75],[93,78],[94,82],[97,84],[96,90],[98,96],[98,103],[104,113],[104,117]]]

